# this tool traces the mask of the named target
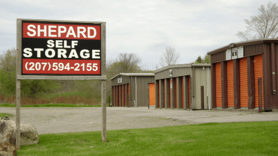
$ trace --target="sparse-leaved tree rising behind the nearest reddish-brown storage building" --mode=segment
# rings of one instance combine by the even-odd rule
[[[266,39],[278,37],[278,6],[268,2],[267,6],[261,5],[257,16],[244,19],[247,25],[245,31],[238,31],[237,36],[242,40]]]

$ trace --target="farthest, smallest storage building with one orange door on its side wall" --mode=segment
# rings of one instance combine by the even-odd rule
[[[154,105],[154,73],[120,73],[112,81],[112,106]]]

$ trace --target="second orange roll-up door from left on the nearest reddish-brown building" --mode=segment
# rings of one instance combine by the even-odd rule
[[[227,61],[227,102],[234,107],[234,61]]]

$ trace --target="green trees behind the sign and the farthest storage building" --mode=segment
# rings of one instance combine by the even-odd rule
[[[133,53],[120,53],[107,61],[107,96],[111,95],[110,79],[116,74],[151,72],[142,70],[141,58]],[[15,96],[16,49],[0,55],[0,95]],[[82,92],[81,96],[101,100],[100,80],[21,80],[21,96],[39,98],[59,92]]]

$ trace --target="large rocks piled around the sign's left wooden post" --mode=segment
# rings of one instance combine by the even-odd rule
[[[20,124],[20,145],[37,143],[39,143],[39,134],[36,128],[31,125]],[[0,120],[0,151],[15,155],[15,121]]]

